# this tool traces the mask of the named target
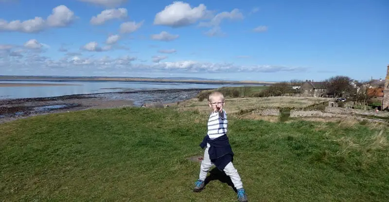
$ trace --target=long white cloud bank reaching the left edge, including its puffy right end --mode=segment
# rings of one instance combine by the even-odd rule
[[[70,25],[77,17],[66,6],[59,5],[53,8],[53,13],[47,20],[41,17],[27,19],[24,21],[12,20],[8,22],[5,19],[0,19],[0,31],[37,33],[48,27],[64,27]]]

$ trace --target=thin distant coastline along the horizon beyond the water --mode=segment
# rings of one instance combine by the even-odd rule
[[[104,77],[104,76],[85,76],[85,77],[60,77],[60,76],[13,76],[0,75],[0,80],[46,80],[46,81],[131,81],[131,82],[174,82],[174,83],[196,83],[196,84],[246,84],[246,85],[270,85],[276,82],[267,81],[229,81],[212,80],[199,78],[147,78],[147,77]]]

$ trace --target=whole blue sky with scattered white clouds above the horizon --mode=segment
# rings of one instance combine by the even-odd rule
[[[0,0],[0,74],[385,78],[388,0]]]

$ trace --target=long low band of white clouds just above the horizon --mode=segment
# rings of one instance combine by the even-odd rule
[[[96,47],[96,46],[93,46]],[[91,50],[93,50],[93,47]],[[96,48],[94,48],[96,49]],[[15,54],[17,55],[17,54]],[[233,63],[211,63],[193,60],[161,62],[166,59],[163,56],[155,56],[152,59],[153,63],[134,63],[136,57],[125,55],[122,57],[111,58],[104,57],[82,57],[80,55],[65,56],[60,59],[52,59],[40,55],[28,55],[19,57],[17,60],[12,60],[10,55],[0,57],[0,70],[34,70],[41,72],[42,70],[51,70],[61,68],[72,73],[75,71],[85,71],[88,75],[93,72],[105,69],[107,73],[123,73],[123,72],[175,72],[175,73],[277,73],[289,72],[298,73],[306,71],[302,67],[285,67],[272,65],[236,65]],[[159,60],[159,61],[158,61]],[[74,69],[72,69],[74,68]],[[20,73],[20,72],[18,72]],[[58,72],[57,72],[58,73]]]

